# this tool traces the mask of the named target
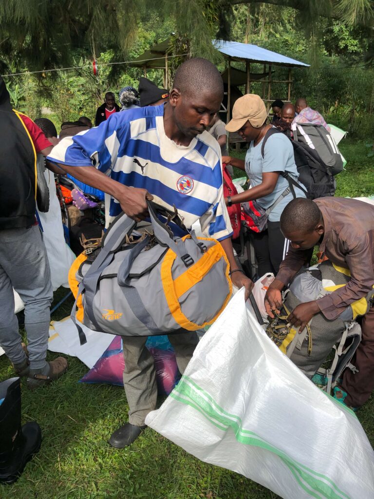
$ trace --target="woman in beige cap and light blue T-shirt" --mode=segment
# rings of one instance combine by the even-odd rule
[[[238,132],[250,146],[244,161],[230,156],[222,157],[222,163],[244,170],[251,184],[251,189],[225,198],[227,206],[253,200],[264,210],[274,205],[267,229],[253,232],[260,276],[267,272],[278,272],[288,250],[288,240],[285,240],[279,227],[281,213],[294,197],[305,198],[306,192],[305,187],[297,182],[299,174],[290,140],[283,133],[274,133],[274,127],[266,124],[266,118],[267,112],[261,97],[254,94],[240,97],[233,106],[232,120],[226,125],[226,130]],[[262,147],[265,135],[266,141]],[[300,188],[295,185],[300,185]]]

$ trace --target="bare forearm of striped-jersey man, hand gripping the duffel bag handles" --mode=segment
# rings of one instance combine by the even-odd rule
[[[107,177],[93,166],[60,165],[68,174],[94,189],[110,194],[121,205],[122,210],[136,222],[144,220],[148,214],[146,200],[153,196],[146,189],[127,187]]]

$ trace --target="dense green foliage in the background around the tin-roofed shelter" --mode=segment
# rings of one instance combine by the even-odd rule
[[[12,1],[15,5],[19,3],[17,0]],[[60,17],[54,14],[51,21],[53,25],[55,17],[59,19],[61,29],[58,32],[63,34],[65,44],[61,44],[59,38],[53,38],[53,30],[48,28],[43,31],[45,26],[41,24],[40,36],[51,37],[49,41],[45,41],[46,51],[36,49],[40,48],[40,39],[35,39],[30,34],[33,22],[36,22],[32,20],[32,16],[24,25],[24,36],[19,32],[15,36],[9,21],[0,28],[0,43],[3,47],[0,68],[4,69],[5,75],[22,73],[5,76],[13,103],[33,118],[41,115],[42,107],[50,108],[53,112],[51,118],[57,130],[62,121],[74,120],[81,115],[93,119],[95,109],[103,101],[106,91],[113,90],[118,94],[122,86],[137,86],[138,78],[143,75],[141,68],[131,67],[123,61],[131,61],[153,44],[171,37],[171,76],[183,59],[173,58],[173,55],[181,53],[191,56],[204,55],[215,61],[220,69],[224,69],[222,58],[217,52],[214,53],[210,44],[212,37],[222,35],[230,36],[232,40],[258,44],[309,62],[310,69],[300,68],[293,71],[291,99],[305,96],[311,106],[322,112],[328,121],[345,128],[352,136],[372,136],[374,69],[367,66],[372,41],[368,27],[363,21],[363,10],[358,8],[357,2],[354,2],[356,21],[361,23],[352,23],[353,14],[350,17],[351,22],[332,18],[333,15],[337,17],[332,8],[328,17],[326,5],[322,9],[323,12],[321,5],[318,7],[320,10],[315,5],[320,2],[307,2],[309,10],[300,11],[283,6],[292,2],[281,1],[274,3],[282,6],[271,4],[273,2],[243,2],[222,10],[219,7],[222,1],[204,0],[202,4],[199,3],[199,7],[195,2],[185,2],[182,5],[182,2],[177,1],[173,4],[173,9],[169,9],[168,15],[167,10],[159,9],[155,12],[150,5],[147,7],[146,0],[135,2],[135,9],[134,4],[130,9],[126,2],[112,0],[107,2],[104,10],[97,6],[102,3],[100,0],[84,4],[76,2],[74,9],[65,12],[64,16],[59,7],[56,12],[61,13]],[[170,1],[166,3],[169,6],[171,4]],[[330,3],[332,5],[334,2]],[[347,9],[348,3],[348,0],[341,1],[341,8],[345,5]],[[50,4],[54,5],[54,2]],[[65,2],[60,4],[65,5]],[[116,8],[111,10],[109,5],[115,4]],[[18,5],[18,9],[15,9],[19,19],[26,15],[25,6],[23,3],[22,5],[22,8]],[[31,7],[32,3],[29,2],[28,8],[32,10]],[[89,12],[86,8],[89,8]],[[119,11],[125,8],[127,11],[131,10],[130,17],[119,14]],[[197,11],[198,16],[194,15]],[[370,12],[365,8],[364,11]],[[78,15],[78,12],[82,14]],[[183,15],[180,15],[182,12]],[[320,15],[321,12],[324,15]],[[9,17],[10,14],[7,15]],[[0,19],[4,16],[2,6]],[[40,17],[42,12],[38,18]],[[201,31],[202,24],[205,31]],[[201,36],[198,36],[197,28]],[[94,29],[94,34],[90,29]],[[83,35],[84,32],[86,35]],[[171,35],[174,32],[176,34]],[[123,40],[122,45],[119,40]],[[69,47],[68,53],[65,53],[64,47]],[[98,76],[94,76],[92,71],[93,54],[99,64]],[[79,68],[35,74],[26,71],[52,69],[63,64]],[[233,63],[233,66],[244,69],[244,65],[240,63]],[[263,68],[253,64],[251,70],[262,72]],[[287,69],[273,67],[273,70],[273,80],[287,79]],[[164,84],[160,70],[148,71],[148,77],[160,86]],[[286,98],[285,88],[284,84],[273,84],[272,97]],[[251,91],[261,95],[262,84],[252,83]]]

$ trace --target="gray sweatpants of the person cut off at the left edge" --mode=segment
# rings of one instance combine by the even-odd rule
[[[13,288],[24,303],[30,367],[45,366],[53,299],[50,269],[38,226],[0,231],[0,346],[13,364],[24,361]]]

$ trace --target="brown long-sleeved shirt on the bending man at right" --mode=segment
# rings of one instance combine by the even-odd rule
[[[317,300],[327,319],[335,319],[374,285],[374,206],[355,199],[319,198],[325,234],[320,251],[336,265],[349,268],[346,286]],[[290,247],[276,276],[284,284],[307,262],[310,251]]]

